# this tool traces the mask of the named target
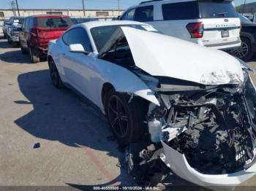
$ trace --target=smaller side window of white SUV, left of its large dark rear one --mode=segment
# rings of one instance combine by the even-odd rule
[[[135,20],[139,22],[148,22],[154,20],[154,6],[138,7],[135,11]]]

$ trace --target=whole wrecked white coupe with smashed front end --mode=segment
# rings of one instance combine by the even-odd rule
[[[121,143],[162,144],[160,159],[183,179],[236,186],[255,175],[246,63],[129,21],[73,26],[50,42],[48,63],[53,85],[98,106]]]

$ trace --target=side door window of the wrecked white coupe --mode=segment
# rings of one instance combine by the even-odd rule
[[[67,44],[82,44],[84,50],[87,50],[89,52],[92,52],[91,50],[91,42],[89,39],[88,34],[86,33],[86,30],[83,28],[74,28],[69,31],[68,36],[65,36],[64,39],[67,40]]]

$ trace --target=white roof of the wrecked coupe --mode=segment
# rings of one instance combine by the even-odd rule
[[[77,26],[85,26],[86,28],[95,28],[99,26],[118,26],[118,25],[143,25],[148,26],[146,23],[140,23],[130,20],[106,20],[106,21],[91,21],[89,23],[81,23]]]

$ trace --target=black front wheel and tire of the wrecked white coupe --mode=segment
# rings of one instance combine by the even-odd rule
[[[105,110],[119,143],[127,145],[142,139],[146,132],[143,120],[146,119],[147,103],[140,98],[117,93],[109,90],[105,101]]]

